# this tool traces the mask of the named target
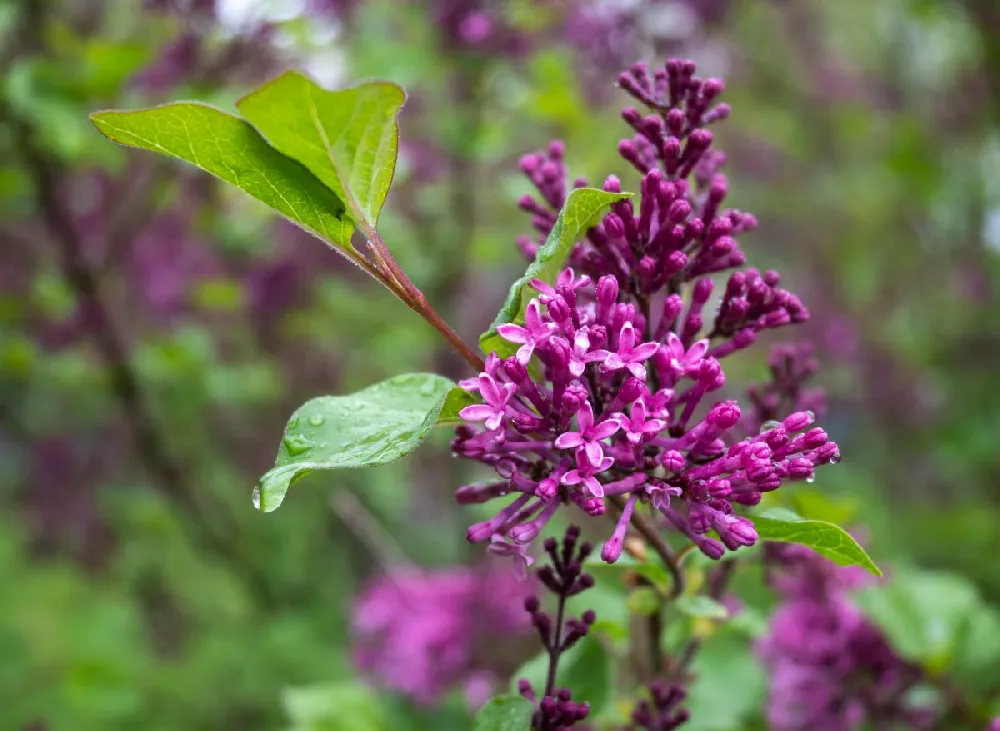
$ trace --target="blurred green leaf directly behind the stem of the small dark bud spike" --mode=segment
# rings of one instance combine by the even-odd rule
[[[612,658],[596,637],[588,634],[559,658],[556,687],[569,688],[573,700],[590,704],[590,717],[597,718],[611,702],[614,685],[611,677]],[[531,681],[535,691],[545,690],[549,670],[549,655],[542,652],[522,665],[511,676],[516,691],[521,678]]]

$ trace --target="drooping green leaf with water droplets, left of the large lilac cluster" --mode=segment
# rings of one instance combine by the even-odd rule
[[[453,388],[442,376],[408,373],[349,396],[308,401],[285,426],[274,468],[254,489],[255,505],[264,512],[277,509],[289,486],[316,470],[373,467],[405,457],[446,405],[454,411]]]

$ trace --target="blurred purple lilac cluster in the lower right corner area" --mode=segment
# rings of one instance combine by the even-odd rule
[[[784,602],[757,650],[771,679],[775,731],[932,728],[932,709],[906,702],[921,670],[900,658],[848,592],[870,580],[812,549],[767,544],[772,585]]]

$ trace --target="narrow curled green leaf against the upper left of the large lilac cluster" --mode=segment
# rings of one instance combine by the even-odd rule
[[[535,261],[524,276],[511,285],[490,329],[479,336],[479,346],[484,353],[497,352],[507,356],[516,351],[515,346],[497,335],[497,327],[508,322],[524,322],[524,313],[533,291],[531,280],[540,279],[553,284],[566,257],[587,229],[600,223],[604,210],[612,203],[631,197],[631,193],[608,193],[596,188],[577,188],[569,194],[545,245],[535,255]]]

